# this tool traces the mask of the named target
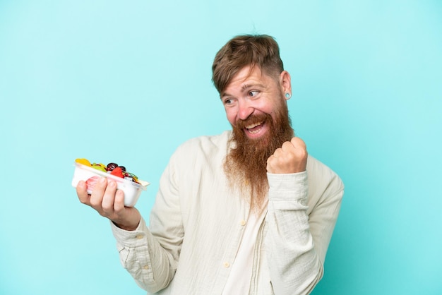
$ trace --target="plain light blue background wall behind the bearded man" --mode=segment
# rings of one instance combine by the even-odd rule
[[[145,294],[73,160],[152,184],[229,128],[210,66],[234,35],[280,43],[289,111],[346,192],[314,294],[442,294],[442,1],[0,0],[0,294]]]

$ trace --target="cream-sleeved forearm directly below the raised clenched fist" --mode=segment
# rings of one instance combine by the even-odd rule
[[[268,174],[267,253],[275,294],[309,294],[323,276],[307,215],[306,171]]]

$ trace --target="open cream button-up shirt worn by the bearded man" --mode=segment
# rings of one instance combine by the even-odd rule
[[[174,152],[149,227],[143,219],[135,231],[112,224],[121,264],[148,292],[222,294],[249,215],[222,168],[230,136],[193,138]],[[310,156],[306,171],[268,174],[268,181],[249,294],[309,294],[323,276],[342,181]]]

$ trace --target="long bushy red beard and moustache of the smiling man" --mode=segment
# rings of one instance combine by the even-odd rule
[[[261,121],[270,126],[268,133],[258,139],[247,137],[244,126]],[[232,125],[233,148],[225,159],[225,173],[230,185],[250,201],[251,208],[259,209],[268,193],[267,159],[294,136],[287,104],[281,104],[275,120],[270,114],[260,114],[236,123]]]

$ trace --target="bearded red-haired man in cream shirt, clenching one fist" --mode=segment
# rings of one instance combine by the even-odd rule
[[[294,137],[290,76],[267,35],[215,56],[232,131],[193,138],[160,179],[150,226],[102,179],[80,202],[109,218],[122,265],[157,294],[309,294],[323,276],[343,185]]]

